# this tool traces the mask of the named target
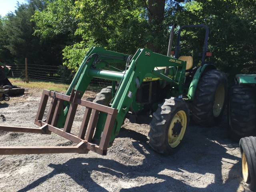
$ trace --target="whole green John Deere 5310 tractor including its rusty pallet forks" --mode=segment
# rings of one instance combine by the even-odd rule
[[[174,26],[173,26],[174,27]],[[206,35],[200,56],[200,67],[193,66],[191,56],[179,56],[180,33],[184,28],[204,27]],[[87,153],[106,155],[120,128],[128,118],[131,123],[150,124],[149,144],[162,154],[176,152],[186,134],[192,103],[193,119],[203,126],[214,126],[222,116],[227,79],[223,72],[206,62],[208,28],[205,25],[182,26],[178,31],[175,57],[140,48],[126,55],[92,47],[78,69],[66,94],[44,90],[36,115],[37,128],[0,126],[2,131],[50,134],[54,132],[76,142],[76,147],[0,147],[0,154]],[[124,70],[114,64],[122,64]],[[82,100],[93,78],[112,81],[102,89],[94,102]],[[48,98],[52,98],[46,120],[43,120]],[[71,134],[78,105],[86,106],[78,136]]]

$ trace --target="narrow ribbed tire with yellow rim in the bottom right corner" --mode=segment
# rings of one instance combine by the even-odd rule
[[[256,137],[240,139],[239,146],[244,182],[250,190],[254,191],[256,190]]]

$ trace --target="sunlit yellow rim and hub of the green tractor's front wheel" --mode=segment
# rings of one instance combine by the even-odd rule
[[[172,119],[172,122],[168,131],[168,142],[169,145],[174,148],[180,144],[187,126],[186,113],[180,110]]]

